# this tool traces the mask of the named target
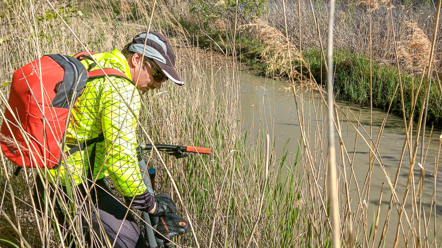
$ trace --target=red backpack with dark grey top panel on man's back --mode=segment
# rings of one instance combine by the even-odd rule
[[[80,62],[89,58],[88,54],[49,54],[14,72],[0,129],[5,136],[0,138],[1,151],[14,164],[33,168],[57,165],[63,159],[70,109],[86,81],[105,73],[129,80],[115,69],[88,71]]]

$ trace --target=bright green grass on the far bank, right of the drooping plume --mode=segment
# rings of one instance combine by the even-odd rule
[[[310,70],[316,81],[322,85],[326,83],[324,66],[321,65],[319,50],[307,50],[304,58],[310,65]],[[352,104],[361,106],[370,105],[370,59],[347,51],[334,53],[334,92],[338,99],[347,100]],[[408,118],[412,112],[412,102],[419,90],[420,76],[403,73],[402,91],[404,98],[405,116]],[[441,92],[432,82],[427,120],[433,124],[441,124]],[[399,84],[399,73],[395,67],[372,61],[372,101],[373,106],[387,110],[392,99],[391,110],[393,113],[403,115],[400,88],[394,90]],[[420,93],[424,84],[420,87]],[[414,107],[414,119],[418,117],[418,111],[422,104],[422,95],[419,94]]]

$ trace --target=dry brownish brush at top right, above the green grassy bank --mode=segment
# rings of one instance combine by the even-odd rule
[[[299,37],[298,6],[297,1],[289,1],[287,8],[287,23],[289,37],[302,42],[302,50],[320,48],[321,42],[325,44],[327,38],[327,15],[328,9],[325,4],[301,1],[301,29],[302,37]],[[284,18],[282,5],[273,3],[269,7],[266,16],[267,23],[278,30],[284,30]],[[426,37],[431,37],[433,24],[435,23],[436,11],[433,7],[422,4],[407,6],[394,3],[391,7],[392,20],[390,21],[389,1],[387,0],[367,0],[351,4],[336,5],[335,26],[334,26],[334,49],[348,50],[356,54],[369,55],[369,22],[371,20],[371,37],[373,41],[373,57],[378,61],[383,61],[395,65],[394,46],[405,46],[404,53],[413,56],[414,68],[409,68],[405,64],[403,69],[408,72],[420,74],[424,58],[428,56],[429,42]],[[315,15],[313,15],[312,10]],[[315,24],[315,20],[316,23]],[[295,25],[296,24],[296,25]],[[394,29],[392,28],[394,26]],[[396,36],[397,44],[392,42],[393,32]],[[321,37],[321,38],[318,38]],[[442,72],[442,33],[439,32],[436,39],[435,49],[435,69]],[[417,50],[418,49],[418,50]],[[404,54],[405,55],[405,54]],[[415,61],[421,58],[419,62]],[[428,60],[427,60],[428,61]],[[422,63],[423,62],[423,63]],[[417,67],[416,67],[417,66]]]

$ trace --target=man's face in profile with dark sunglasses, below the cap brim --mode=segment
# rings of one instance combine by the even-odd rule
[[[157,69],[161,72],[160,67],[158,67],[155,61],[152,60],[151,63],[149,63],[146,58],[143,58],[143,62],[141,63],[141,54],[139,53],[135,53],[132,56],[132,65],[132,80],[136,83],[140,95],[148,90],[160,89],[161,84],[166,81],[165,78],[162,79],[155,71],[155,69]],[[153,66],[156,68],[154,69]]]

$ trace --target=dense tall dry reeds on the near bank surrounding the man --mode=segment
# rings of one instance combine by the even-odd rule
[[[297,160],[293,164],[285,164],[284,157],[276,164],[278,158],[271,147],[265,145],[270,140],[264,138],[264,132],[258,134],[257,139],[242,134],[238,122],[237,71],[226,68],[224,83],[215,84],[212,76],[206,74],[210,64],[199,58],[199,51],[190,46],[193,41],[183,35],[184,30],[176,26],[174,30],[163,29],[171,27],[173,16],[168,16],[164,2],[158,4],[161,11],[155,12],[152,29],[167,34],[177,53],[176,66],[187,84],[179,88],[167,83],[160,92],[149,92],[142,98],[139,121],[143,134],[138,139],[147,141],[148,137],[152,137],[156,143],[213,149],[213,155],[209,157],[198,155],[175,160],[164,154],[160,158],[154,152],[146,157],[155,161],[160,182],[158,191],[170,193],[178,204],[179,214],[189,216],[193,224],[194,233],[179,237],[175,243],[184,247],[207,247],[209,243],[213,247],[243,247],[249,239],[252,247],[264,244],[277,246],[280,242],[293,244],[292,231],[284,229],[285,224],[281,226],[280,220],[293,225],[299,214],[284,209],[276,199],[296,203],[300,198],[296,191],[292,191],[297,181],[292,179],[293,173],[287,179],[280,175],[280,168],[294,168]],[[7,84],[16,68],[43,54],[76,53],[83,50],[83,45],[96,52],[121,49],[133,36],[145,31],[149,22],[149,14],[146,13],[150,13],[152,6],[138,1],[130,1],[128,9],[124,6],[115,5],[113,1],[55,2],[54,10],[44,1],[41,4],[2,1],[0,9],[7,20],[0,27],[5,41],[0,46],[1,81],[6,84],[2,89],[5,96],[1,101],[3,109],[7,104]],[[128,12],[134,10],[137,15]],[[212,70],[217,71],[218,68]],[[266,167],[269,168],[267,175]],[[67,243],[66,236],[70,233],[74,235],[73,242],[77,247],[86,247],[82,225],[76,215],[68,216],[71,224],[54,225],[53,205],[47,206],[48,214],[45,214],[39,213],[32,204],[34,180],[45,173],[44,170],[28,169],[18,177],[10,176],[14,169],[14,165],[2,156],[1,244],[68,247],[71,244]],[[175,182],[178,191],[173,189],[172,182]],[[49,190],[50,186],[46,187]],[[57,200],[63,202],[60,189],[55,188],[58,190]],[[178,197],[183,199],[182,204]],[[260,212],[260,199],[259,209],[265,210],[265,213],[258,219],[256,213]],[[63,202],[65,211],[75,210],[83,201],[81,198],[72,200],[75,205]],[[301,207],[300,203],[298,205]],[[212,223],[215,228],[213,239],[209,240],[207,230],[211,229]],[[63,238],[65,241],[60,241]],[[93,242],[103,247],[111,245],[106,241]]]

